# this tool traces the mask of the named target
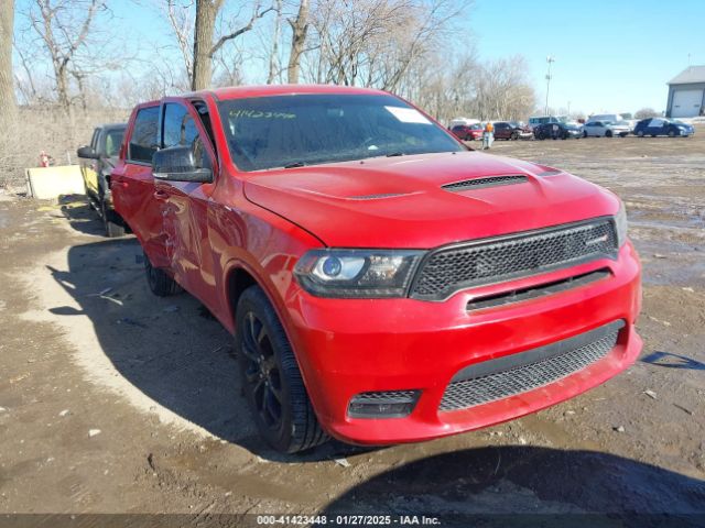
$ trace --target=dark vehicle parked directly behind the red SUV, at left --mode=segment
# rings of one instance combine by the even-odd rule
[[[124,222],[112,207],[110,173],[118,162],[126,128],[126,123],[96,127],[90,144],[76,152],[86,196],[102,219],[107,237],[124,234]]]

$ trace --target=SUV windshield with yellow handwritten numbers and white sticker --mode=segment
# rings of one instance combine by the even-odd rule
[[[218,103],[241,170],[458,152],[463,146],[387,95],[291,95]]]

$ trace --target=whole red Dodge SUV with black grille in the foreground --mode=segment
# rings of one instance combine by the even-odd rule
[[[486,427],[605,382],[641,349],[620,200],[471,152],[383,91],[140,105],[111,185],[150,288],[183,287],[235,334],[253,418],[282,451]]]

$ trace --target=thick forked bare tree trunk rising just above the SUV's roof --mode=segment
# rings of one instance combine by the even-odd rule
[[[202,90],[210,85],[213,77],[213,57],[223,45],[252,30],[254,22],[264,16],[274,8],[262,8],[257,0],[249,21],[238,28],[220,35],[214,42],[216,19],[224,0],[196,0],[196,25],[194,30],[194,72],[191,82],[193,90]]]

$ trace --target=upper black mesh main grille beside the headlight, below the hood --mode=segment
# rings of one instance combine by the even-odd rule
[[[616,255],[617,234],[611,218],[456,244],[425,257],[412,284],[411,297],[443,300],[470,286]]]

